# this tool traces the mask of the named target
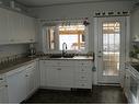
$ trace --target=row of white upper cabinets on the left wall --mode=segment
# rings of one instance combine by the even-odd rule
[[[0,8],[0,44],[35,43],[35,19]]]

